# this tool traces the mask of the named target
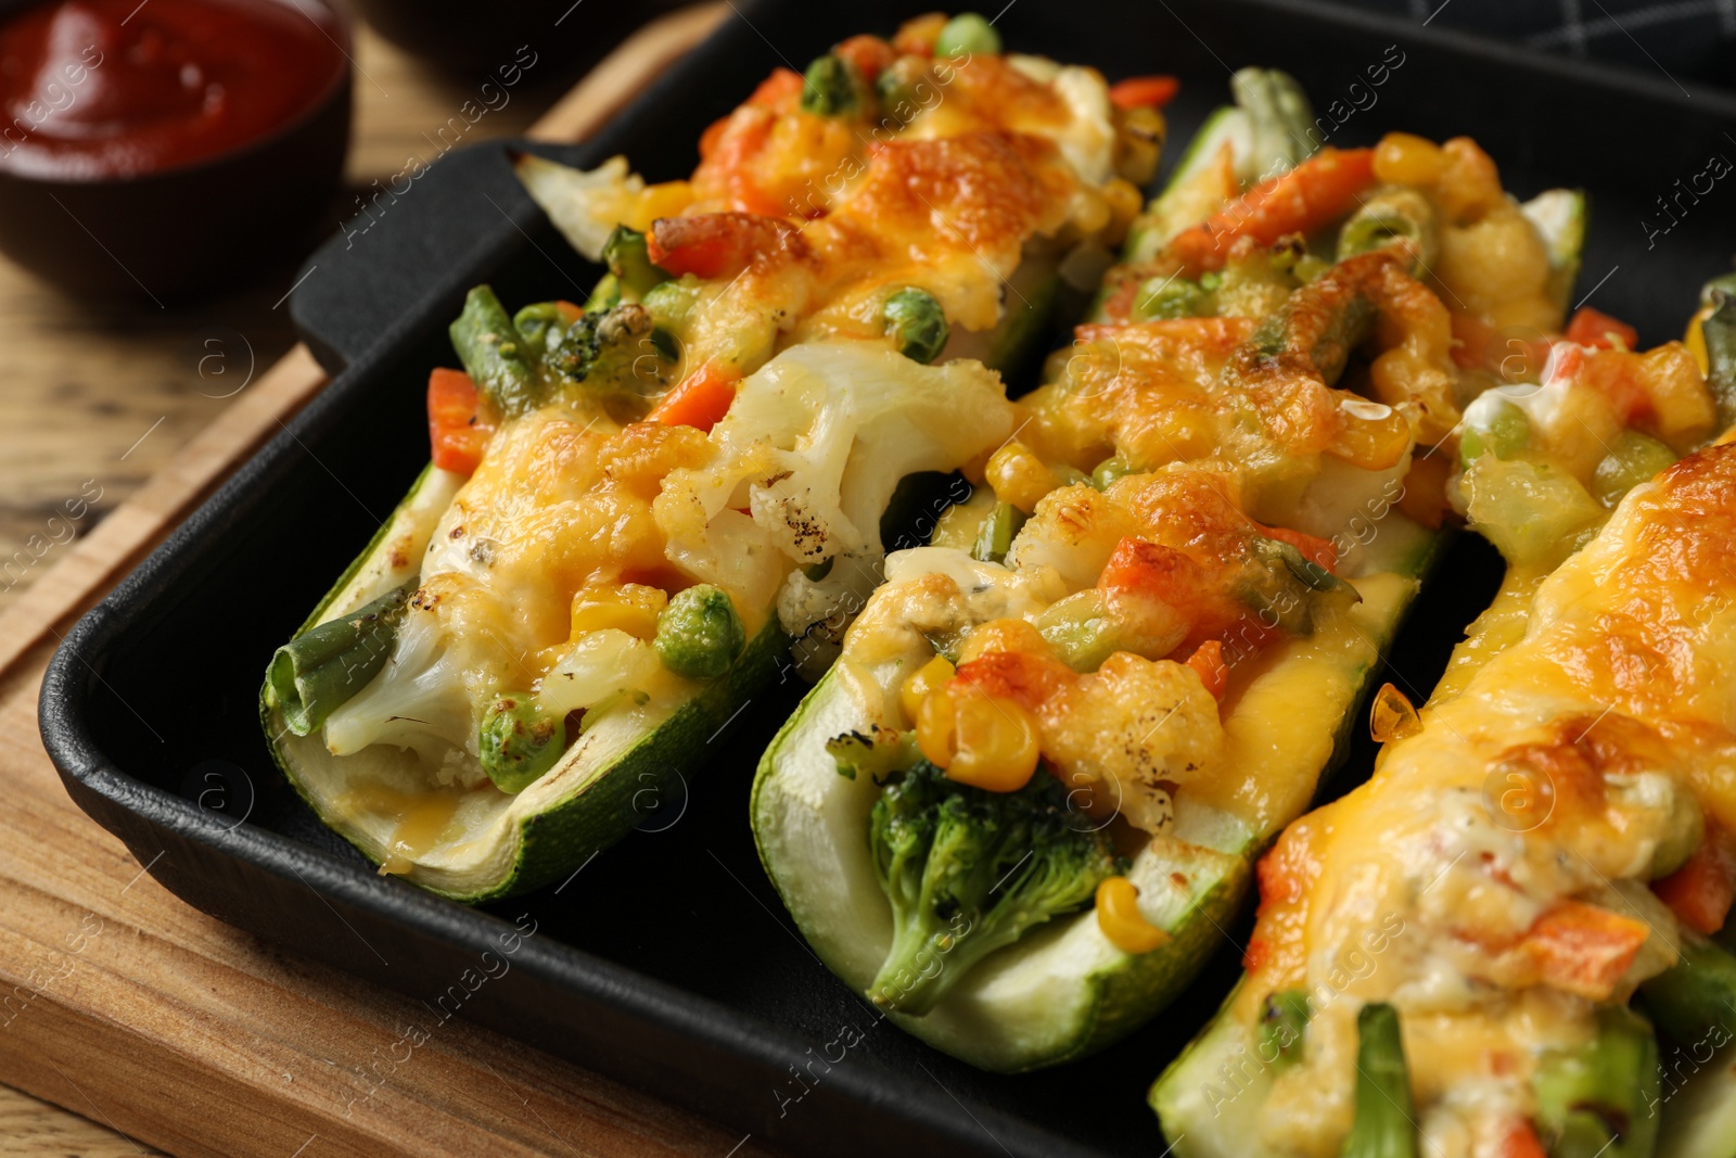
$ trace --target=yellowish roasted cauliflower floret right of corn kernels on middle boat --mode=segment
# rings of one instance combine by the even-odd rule
[[[1106,792],[1108,804],[1153,833],[1174,821],[1170,788],[1198,780],[1224,748],[1217,700],[1200,675],[1127,651],[1062,686],[1038,715],[1043,755],[1062,781]]]

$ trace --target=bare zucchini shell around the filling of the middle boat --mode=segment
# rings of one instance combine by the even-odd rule
[[[1170,934],[1167,944],[1125,953],[1087,908],[996,950],[927,1014],[891,1017],[974,1066],[1023,1071],[1095,1052],[1172,1002],[1219,946],[1220,927],[1248,894],[1255,858],[1344,755],[1380,651],[1441,542],[1391,510],[1366,549],[1364,575],[1352,580],[1363,602],[1262,660],[1224,733],[1226,764],[1257,769],[1271,792],[1271,819],[1248,823],[1179,802],[1174,835],[1154,839],[1127,873],[1142,896],[1156,898],[1141,908]],[[868,776],[840,776],[825,745],[880,722],[878,696],[871,679],[835,665],[773,740],[750,804],[766,873],[819,960],[856,991],[868,988],[892,944],[892,908],[866,839],[880,790]]]

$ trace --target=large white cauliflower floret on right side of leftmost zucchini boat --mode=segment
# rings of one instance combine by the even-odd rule
[[[884,557],[899,479],[953,470],[1012,431],[1000,378],[974,361],[924,366],[868,342],[809,342],[743,380],[708,460],[674,470],[654,503],[668,559],[740,606],[788,575],[790,634],[861,606]],[[741,514],[741,509],[750,514]],[[821,580],[790,575],[835,559]]]

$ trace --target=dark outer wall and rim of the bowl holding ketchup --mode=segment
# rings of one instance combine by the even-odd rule
[[[0,19],[30,5],[0,3]],[[323,0],[351,52],[351,19]],[[217,156],[134,177],[0,170],[0,252],[73,293],[156,304],[304,255],[330,229],[349,151],[351,68],[295,120]]]

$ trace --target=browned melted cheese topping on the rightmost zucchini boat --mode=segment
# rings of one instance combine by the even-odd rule
[[[1260,1111],[1271,1153],[1337,1153],[1363,1002],[1401,1010],[1429,1153],[1488,1155],[1477,1139],[1533,1111],[1538,1054],[1588,1040],[1595,1002],[1675,960],[1675,918],[1644,885],[1677,795],[1736,825],[1733,535],[1736,448],[1635,490],[1536,589],[1521,639],[1460,667],[1368,785],[1262,861],[1238,1016],[1276,990],[1316,998],[1304,1061]],[[1491,613],[1498,637],[1526,587]],[[1538,931],[1561,913],[1642,943],[1557,958]]]

